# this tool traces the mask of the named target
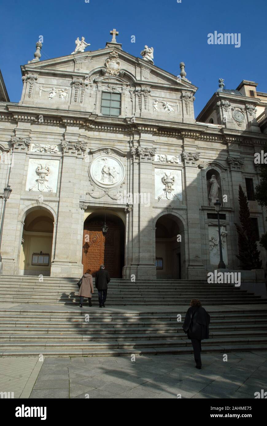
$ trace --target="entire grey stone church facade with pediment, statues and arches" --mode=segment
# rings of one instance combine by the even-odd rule
[[[255,233],[266,232],[254,154],[267,143],[267,95],[220,79],[195,118],[184,63],[172,75],[153,49],[136,58],[112,34],[103,49],[77,39],[72,54],[42,61],[37,43],[20,102],[0,102],[1,219],[12,189],[1,273],[78,277],[104,263],[114,278],[206,279],[220,259],[216,199],[223,261],[237,270],[239,184]]]

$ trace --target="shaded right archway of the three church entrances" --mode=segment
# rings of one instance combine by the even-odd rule
[[[160,216],[156,222],[155,237],[157,278],[184,279],[186,265],[182,221],[172,214]]]

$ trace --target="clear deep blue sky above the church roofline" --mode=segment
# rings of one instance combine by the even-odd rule
[[[86,50],[102,49],[113,28],[131,55],[140,57],[145,44],[153,46],[155,65],[175,75],[185,62],[186,77],[199,88],[196,116],[217,90],[219,78],[226,89],[252,80],[267,92],[266,0],[9,0],[2,2],[1,12],[0,68],[13,102],[22,91],[20,65],[33,59],[39,35],[45,60],[69,55],[81,36],[91,44]],[[207,35],[215,31],[240,33],[241,46],[209,45]]]

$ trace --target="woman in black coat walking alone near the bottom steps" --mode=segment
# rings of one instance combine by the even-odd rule
[[[183,323],[183,331],[191,339],[194,349],[194,360],[196,368],[201,369],[201,340],[209,339],[209,321],[210,316],[198,299],[192,299],[190,308],[186,312],[186,318]]]

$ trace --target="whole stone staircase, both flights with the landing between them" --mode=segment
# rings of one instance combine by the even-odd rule
[[[193,297],[211,315],[203,353],[267,350],[267,299],[231,285],[112,280],[106,308],[97,293],[92,308],[79,308],[76,282],[1,276],[0,301],[8,305],[0,308],[0,356],[191,354],[182,324]]]

